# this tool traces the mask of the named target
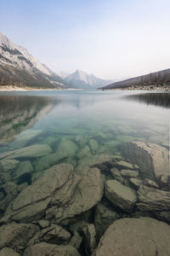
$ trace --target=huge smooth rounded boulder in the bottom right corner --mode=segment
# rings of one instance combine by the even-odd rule
[[[170,227],[153,218],[122,218],[105,231],[95,256],[170,255]]]

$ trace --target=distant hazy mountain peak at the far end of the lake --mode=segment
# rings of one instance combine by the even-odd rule
[[[94,74],[85,73],[77,69],[74,73],[59,73],[62,75],[62,78],[73,88],[81,89],[95,89],[101,86],[105,86],[108,83],[112,83],[111,80],[99,79],[94,76]]]

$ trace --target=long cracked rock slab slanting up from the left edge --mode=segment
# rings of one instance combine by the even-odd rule
[[[38,220],[42,217],[49,202],[52,201],[55,192],[59,193],[60,188],[64,190],[63,194],[67,199],[68,195],[66,193],[69,194],[73,178],[71,165],[61,164],[51,167],[43,172],[35,183],[20,192],[5,212],[3,219],[12,218],[25,222]],[[67,186],[67,183],[69,183],[69,186]],[[64,185],[67,186],[67,190],[65,190]],[[59,200],[64,201],[64,198],[59,198]]]

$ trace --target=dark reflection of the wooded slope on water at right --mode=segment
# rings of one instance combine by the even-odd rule
[[[147,105],[170,108],[170,93],[142,93],[127,96],[130,101],[142,102]]]

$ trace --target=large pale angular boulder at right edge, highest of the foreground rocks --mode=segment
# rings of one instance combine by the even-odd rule
[[[135,161],[141,169],[141,175],[149,178],[161,186],[161,189],[170,189],[169,153],[153,143],[124,143],[122,146],[124,154]]]

